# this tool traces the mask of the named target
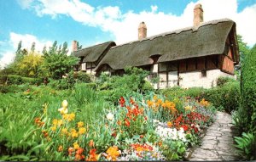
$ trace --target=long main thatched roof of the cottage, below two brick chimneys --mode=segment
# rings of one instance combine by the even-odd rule
[[[232,30],[235,28],[235,30]],[[113,70],[125,66],[143,66],[153,64],[150,57],[160,55],[158,62],[189,59],[224,53],[225,42],[230,31],[236,32],[236,23],[232,20],[213,20],[198,27],[188,27],[166,32],[141,41],[129,42],[111,47],[97,65],[108,64]],[[236,38],[235,38],[236,40]],[[236,45],[237,46],[237,43]],[[238,57],[238,51],[235,51]],[[236,60],[239,60],[236,58]]]

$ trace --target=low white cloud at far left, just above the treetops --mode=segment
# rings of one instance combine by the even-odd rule
[[[32,43],[36,43],[36,51],[41,52],[44,49],[44,46],[49,47],[52,45],[50,41],[39,40],[36,36],[32,36],[29,34],[21,35],[15,32],[11,32],[9,34],[9,47],[10,49],[7,51],[1,51],[3,57],[0,59],[0,67],[4,67],[7,64],[11,63],[15,57],[15,50],[18,47],[19,42],[22,41],[22,49],[26,48],[30,50],[32,47]],[[5,44],[7,42],[4,42]]]

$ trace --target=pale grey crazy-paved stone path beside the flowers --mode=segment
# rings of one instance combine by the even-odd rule
[[[201,146],[186,153],[189,161],[227,161],[239,160],[233,146],[234,132],[231,129],[231,115],[217,112],[215,121],[212,123],[202,138]]]

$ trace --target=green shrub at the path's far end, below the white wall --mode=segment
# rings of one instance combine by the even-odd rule
[[[240,105],[240,87],[239,82],[229,82],[223,87],[214,87],[207,89],[201,98],[211,102],[215,108],[224,108],[225,111],[231,112],[236,110]]]

